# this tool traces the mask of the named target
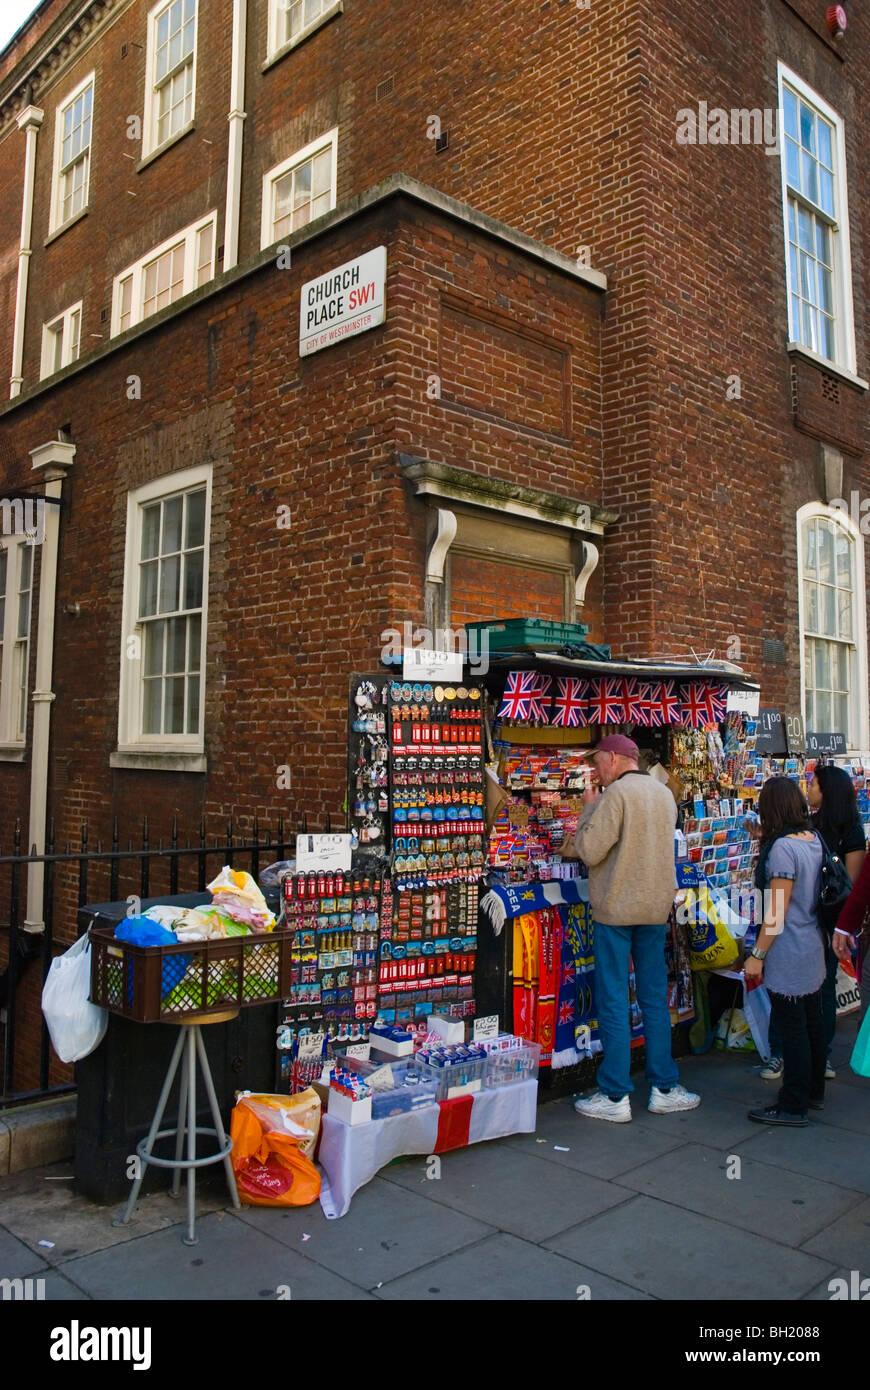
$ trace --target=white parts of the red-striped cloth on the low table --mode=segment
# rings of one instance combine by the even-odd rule
[[[468,1143],[534,1134],[538,1083],[520,1081],[479,1091],[471,1105]],[[322,1118],[320,1205],[329,1218],[345,1216],[357,1187],[371,1182],[378,1169],[403,1154],[434,1154],[438,1140],[438,1105],[407,1115],[393,1115],[368,1125],[343,1125],[327,1112]]]

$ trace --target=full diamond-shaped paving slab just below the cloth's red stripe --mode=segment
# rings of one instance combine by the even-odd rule
[[[418,1191],[449,1211],[475,1216],[524,1240],[545,1240],[625,1201],[625,1193],[598,1177],[548,1165],[535,1150],[475,1144],[441,1155],[441,1177],[429,1180],[420,1165],[385,1169],[388,1182]]]

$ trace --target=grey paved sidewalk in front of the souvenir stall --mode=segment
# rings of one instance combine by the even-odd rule
[[[75,1195],[71,1165],[19,1173],[0,1180],[0,1279],[42,1277],[47,1300],[827,1300],[828,1280],[870,1275],[855,1033],[851,1015],[806,1130],[749,1122],[775,1083],[755,1054],[710,1054],[681,1063],[698,1111],[649,1115],[642,1077],[631,1125],[553,1101],[536,1134],[446,1154],[438,1180],[420,1155],[382,1169],[340,1220],[320,1205],[236,1213],[218,1179],[196,1247],[181,1241],[183,1194],[145,1197],[115,1229],[120,1208]]]

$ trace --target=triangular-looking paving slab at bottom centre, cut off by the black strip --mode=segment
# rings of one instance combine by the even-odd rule
[[[646,1300],[649,1294],[571,1259],[498,1233],[470,1250],[378,1289],[378,1298],[428,1302],[507,1302],[578,1298],[591,1302]]]

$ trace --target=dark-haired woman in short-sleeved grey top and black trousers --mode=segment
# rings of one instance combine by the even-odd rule
[[[824,1105],[826,1042],[821,1019],[824,940],[817,903],[821,841],[810,828],[796,783],[771,777],[759,796],[762,852],[756,885],[770,897],[746,980],[762,980],[770,1019],[782,1038],[782,1086],[775,1105],[749,1111],[759,1125],[807,1125]]]

